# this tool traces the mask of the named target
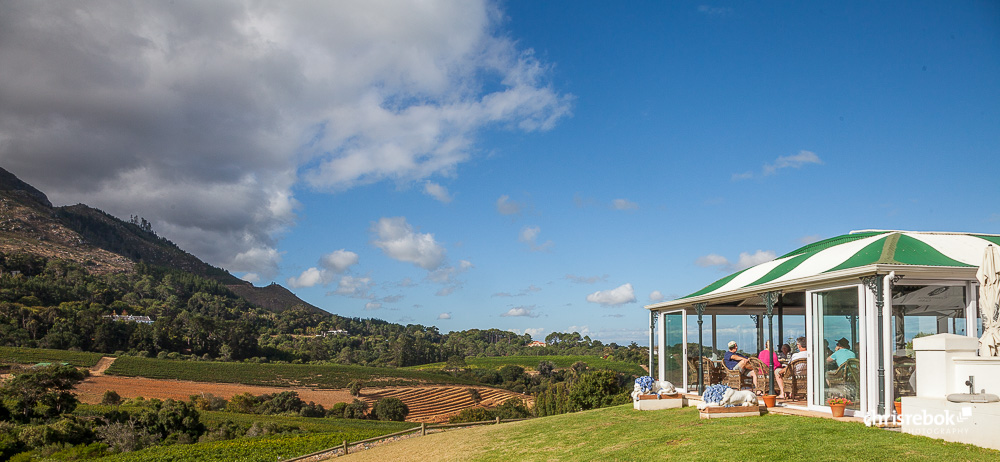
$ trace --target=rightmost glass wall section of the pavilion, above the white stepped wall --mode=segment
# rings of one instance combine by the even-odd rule
[[[892,288],[893,394],[916,396],[913,339],[934,334],[966,335],[965,286],[931,284]]]

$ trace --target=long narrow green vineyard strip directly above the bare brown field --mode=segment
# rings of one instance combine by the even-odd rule
[[[131,356],[118,358],[106,373],[126,377],[279,387],[345,388],[355,379],[363,381],[364,385],[369,387],[419,385],[422,383],[474,384],[474,382],[444,374],[385,367],[172,361]]]

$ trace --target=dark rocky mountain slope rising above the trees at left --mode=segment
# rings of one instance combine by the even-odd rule
[[[0,252],[69,260],[97,274],[131,272],[143,262],[225,284],[253,305],[281,312],[306,303],[278,284],[254,287],[159,237],[145,219],[122,221],[84,205],[53,207],[45,193],[0,168]]]

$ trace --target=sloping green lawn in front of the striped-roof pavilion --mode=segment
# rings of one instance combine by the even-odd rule
[[[411,438],[347,460],[990,460],[1000,451],[831,419],[701,420],[631,405]]]

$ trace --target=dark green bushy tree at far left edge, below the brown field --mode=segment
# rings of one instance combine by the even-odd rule
[[[79,402],[73,386],[87,376],[72,366],[49,366],[22,372],[0,388],[0,397],[14,415],[28,421],[73,412]]]

